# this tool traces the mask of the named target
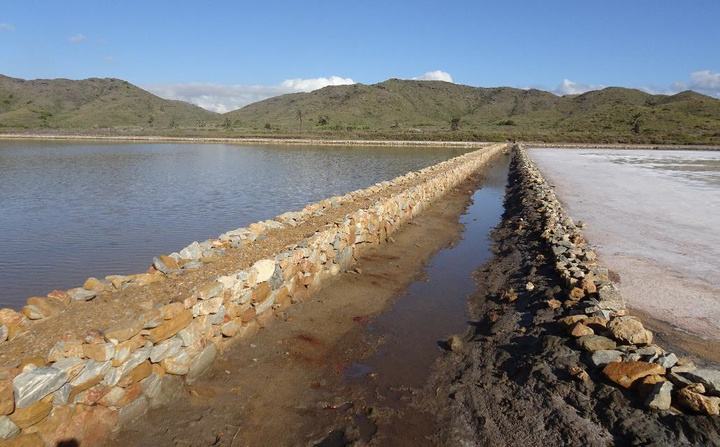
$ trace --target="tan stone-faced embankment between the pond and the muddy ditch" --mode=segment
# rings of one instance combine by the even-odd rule
[[[168,384],[178,378],[196,380],[219,349],[255,335],[276,313],[349,269],[367,247],[388,240],[428,204],[504,150],[504,144],[486,146],[275,220],[193,242],[177,253],[156,257],[147,273],[90,278],[82,287],[30,298],[21,312],[0,310],[2,352],[3,343],[32,341],[37,325],[72,319],[78,306],[98,297],[133,290],[140,294],[143,286],[158,281],[177,283],[184,290],[180,286],[192,272],[209,269],[209,263],[230,252],[252,248],[273,229],[294,228],[350,202],[372,203],[316,228],[272,257],[197,284],[170,302],[104,325],[98,321],[98,327],[88,331],[64,333],[43,355],[8,358],[3,354],[0,440],[4,441],[0,444],[101,443],[117,426],[166,401],[173,389]],[[380,194],[383,191],[396,192]]]

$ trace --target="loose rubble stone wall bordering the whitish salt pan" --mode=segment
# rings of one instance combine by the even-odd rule
[[[639,393],[648,409],[720,414],[720,371],[697,368],[653,343],[653,334],[629,315],[608,269],[583,239],[582,225],[575,225],[565,213],[525,151],[517,151],[521,175],[535,200],[532,205],[543,215],[542,238],[565,286],[564,299],[550,299],[547,305],[562,309],[557,324],[585,351],[586,366],[600,369],[617,386]],[[531,290],[534,285],[526,287]],[[580,367],[569,373],[581,381],[589,379]]]

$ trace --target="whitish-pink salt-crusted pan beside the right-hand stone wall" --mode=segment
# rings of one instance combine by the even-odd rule
[[[720,152],[532,149],[630,307],[720,340]]]

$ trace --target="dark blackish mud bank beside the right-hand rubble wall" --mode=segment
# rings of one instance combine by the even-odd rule
[[[560,310],[547,300],[562,289],[527,191],[514,160],[503,224],[493,232],[495,257],[476,273],[467,343],[437,364],[428,384],[445,398],[424,402],[445,421],[439,443],[720,445],[718,417],[653,413],[597,371],[584,382],[568,373],[583,366],[583,354],[553,323]],[[509,289],[517,299],[506,298]]]

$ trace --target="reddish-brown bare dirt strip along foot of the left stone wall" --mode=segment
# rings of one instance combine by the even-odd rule
[[[383,390],[378,397],[372,374],[360,374],[369,386],[352,388],[344,371],[382,343],[364,335],[373,318],[418,278],[434,253],[457,241],[458,217],[480,182],[480,176],[469,179],[394,235],[394,242],[363,255],[360,274],[340,275],[226,351],[197,385],[178,382],[176,399],[151,410],[111,445],[377,444],[398,431],[404,445],[426,444],[434,418],[408,405],[415,390]]]

